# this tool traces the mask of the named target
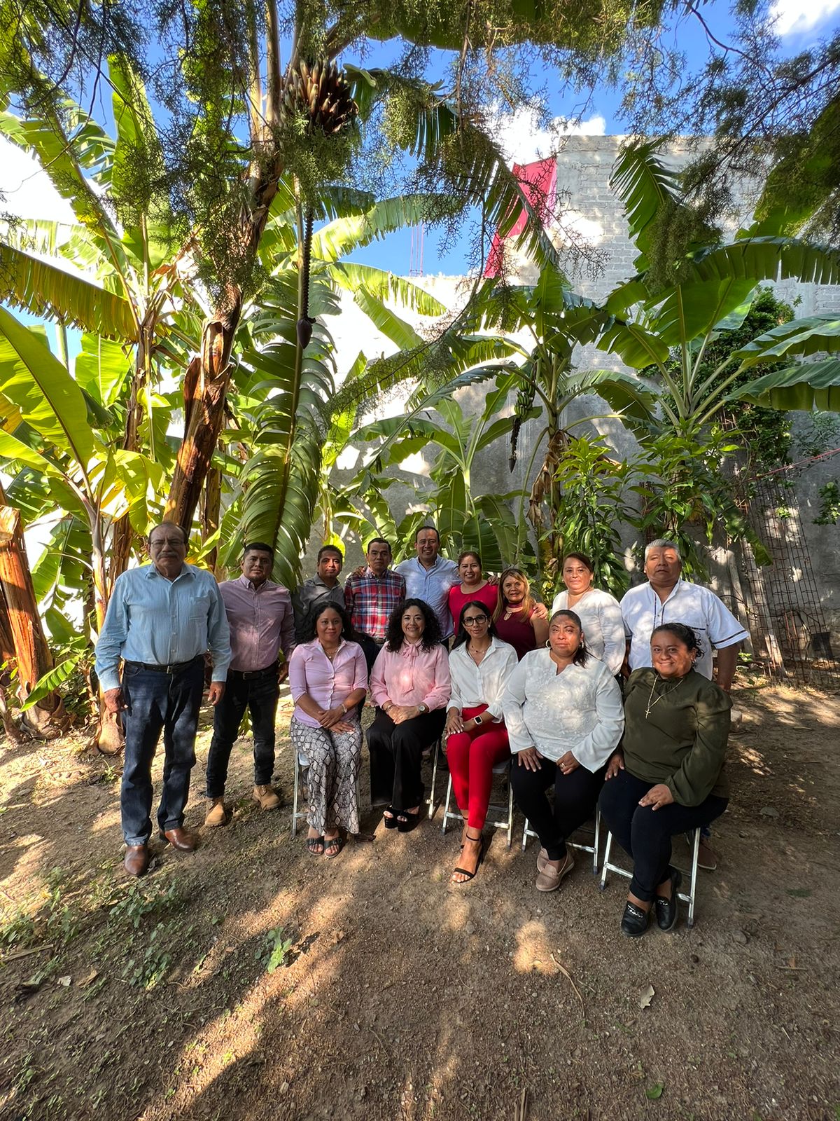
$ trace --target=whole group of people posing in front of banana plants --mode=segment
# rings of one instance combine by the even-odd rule
[[[479,869],[493,768],[511,758],[514,797],[540,839],[536,889],[560,887],[573,867],[567,841],[599,806],[634,864],[622,929],[643,934],[652,910],[661,928],[674,925],[680,873],[671,839],[708,830],[726,808],[728,693],[748,636],[712,592],[682,580],[672,541],[647,546],[647,582],[620,603],[594,586],[586,556],[570,554],[550,614],[521,569],[495,581],[475,552],[447,559],[431,526],[395,567],[389,541],[368,541],[366,565],[343,587],[344,557],[325,546],[316,575],[293,596],[269,578],[269,545],[248,545],[239,578],[218,585],[185,563],[186,552],[179,527],[155,527],[151,564],[116,581],[96,648],[106,706],[124,723],[130,874],[149,867],[151,760],[161,731],[160,834],[177,850],[195,847],[184,809],[209,652],[205,825],[230,821],[227,765],[245,708],[253,797],[263,809],[280,804],[271,786],[274,717],[288,675],[291,742],[308,761],[312,855],[337,856],[346,834],[358,832],[361,714],[370,697],[371,800],[383,807],[386,830],[418,825],[422,756],[445,744],[464,818],[452,882]]]

